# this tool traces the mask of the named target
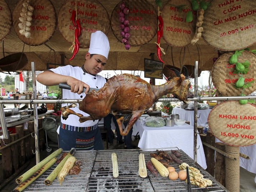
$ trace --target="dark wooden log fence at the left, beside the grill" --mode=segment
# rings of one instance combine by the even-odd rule
[[[40,151],[46,148],[42,120],[43,118],[38,118]],[[36,151],[34,121],[28,121],[27,129],[24,129],[23,125],[17,125],[15,126],[15,133],[9,133],[8,131],[8,134],[8,139],[1,140],[3,178],[0,178],[0,182],[9,178],[27,161],[35,157],[35,154],[33,154]]]

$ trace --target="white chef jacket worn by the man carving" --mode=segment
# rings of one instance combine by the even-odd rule
[[[63,67],[58,67],[55,69],[50,69],[52,72],[57,73],[57,74],[61,74],[61,75],[66,75],[66,76],[71,76],[74,77],[80,81],[83,81],[84,83],[88,84],[91,88],[101,88],[104,86],[104,84],[106,83],[106,79],[100,75],[91,75],[88,73],[83,72],[83,69],[81,67],[73,67],[72,65],[66,65]],[[83,99],[86,95],[84,94],[77,94],[77,93],[73,93],[70,90],[66,90],[63,89],[62,90],[62,98],[63,99]],[[69,104],[62,104],[61,106],[67,106],[70,105]],[[77,103],[77,106],[79,106],[79,104]],[[80,113],[83,116],[89,116],[89,114],[84,113],[83,111],[79,110],[78,107],[75,108],[70,108],[73,111],[75,111],[76,113]],[[61,115],[62,116],[62,115]],[[90,127],[92,125],[95,125],[98,123],[98,120],[89,120],[83,123],[79,122],[79,117],[77,115],[69,115],[67,120],[64,120],[61,117],[61,123],[63,124],[67,124],[67,125],[72,125],[72,126],[76,126],[76,127]]]

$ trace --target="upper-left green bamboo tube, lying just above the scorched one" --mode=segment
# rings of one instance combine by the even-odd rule
[[[51,155],[46,157],[44,160],[42,160],[37,165],[33,166],[31,169],[29,169],[26,173],[21,175],[16,179],[17,184],[23,183],[25,180],[27,180],[33,173],[35,173],[37,170],[39,170],[42,166],[44,166],[47,162],[49,162],[52,158],[58,156],[63,151],[62,148],[59,148],[58,150],[54,151]]]

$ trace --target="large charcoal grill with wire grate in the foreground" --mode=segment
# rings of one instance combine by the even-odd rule
[[[161,149],[168,153],[178,148]],[[111,154],[115,152],[118,159],[119,177],[112,176]],[[156,192],[156,191],[187,191],[187,183],[181,180],[169,180],[160,175],[154,177],[149,171],[146,178],[138,175],[138,156],[143,152],[145,160],[150,160],[150,150],[104,150],[104,151],[76,151],[74,156],[82,161],[79,175],[67,175],[60,185],[57,179],[50,186],[44,184],[44,180],[54,170],[56,165],[48,169],[35,182],[30,184],[24,191],[88,191],[88,192]],[[192,185],[193,192],[217,192],[227,191],[218,181],[207,173],[200,165],[196,164],[184,151],[179,150],[182,157],[179,159],[190,166],[198,168],[204,175],[213,181],[212,187],[199,188]],[[60,154],[58,158],[61,156]],[[178,172],[178,164],[171,166]]]

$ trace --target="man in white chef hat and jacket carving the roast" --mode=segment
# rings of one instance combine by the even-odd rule
[[[108,37],[101,31],[91,34],[90,48],[85,55],[85,62],[82,67],[66,65],[55,69],[49,69],[38,74],[37,81],[46,85],[54,86],[59,83],[67,83],[71,90],[64,90],[63,99],[83,99],[83,88],[86,93],[89,88],[101,88],[106,83],[106,79],[100,73],[106,65],[109,54]],[[67,106],[70,104],[62,104]],[[78,104],[77,104],[78,105]],[[79,110],[78,107],[72,108],[76,113],[89,116]],[[63,150],[70,150],[72,147],[77,150],[103,150],[98,120],[88,120],[80,123],[77,115],[69,115],[67,120],[61,118],[59,130],[59,144]]]

